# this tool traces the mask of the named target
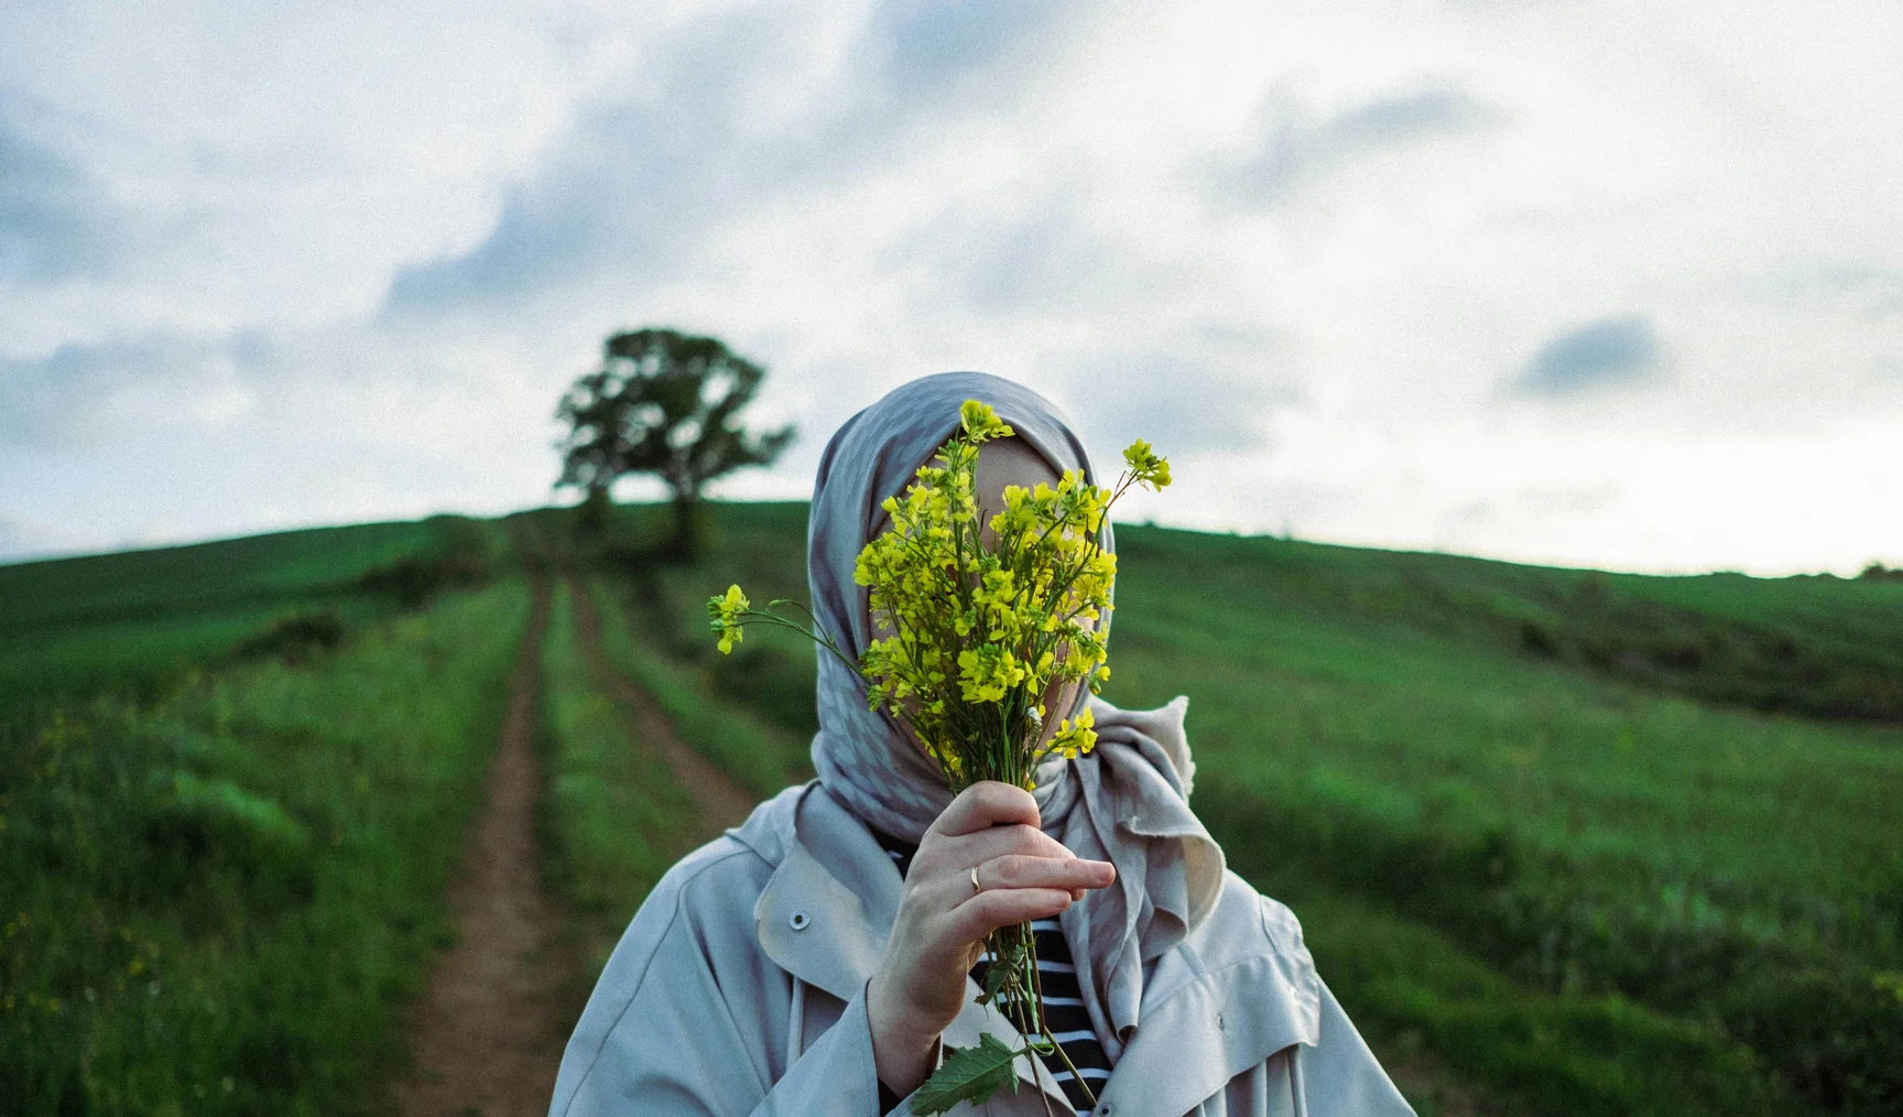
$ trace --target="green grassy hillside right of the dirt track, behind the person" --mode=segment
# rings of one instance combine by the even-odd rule
[[[653,531],[628,510],[624,531]],[[813,729],[801,504],[630,563],[651,643]],[[1551,1113],[1903,1106],[1903,586],[1119,527],[1106,696],[1191,696],[1195,807],[1389,1050]],[[717,744],[714,746],[717,748]]]

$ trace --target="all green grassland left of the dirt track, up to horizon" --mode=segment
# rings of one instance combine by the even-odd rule
[[[375,1109],[527,615],[502,548],[0,567],[0,1111]]]

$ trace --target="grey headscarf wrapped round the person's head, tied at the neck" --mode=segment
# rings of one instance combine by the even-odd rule
[[[904,493],[915,470],[957,432],[965,400],[990,403],[1054,470],[1079,470],[1102,483],[1064,415],[1037,392],[999,377],[923,377],[849,419],[820,457],[807,523],[813,613],[849,656],[872,641],[868,592],[853,580],[853,561],[885,529],[885,499]],[[1104,548],[1113,550],[1113,542],[1106,523]],[[1047,833],[1077,856],[1117,866],[1113,885],[1087,892],[1060,917],[1090,1024],[1115,1062],[1138,1024],[1144,965],[1216,906],[1224,858],[1189,811],[1195,765],[1184,735],[1187,698],[1148,712],[1087,700],[1096,748],[1077,759],[1047,759],[1033,794]],[[936,761],[891,714],[868,710],[864,681],[830,655],[818,656],[818,717],[813,769],[820,784],[868,826],[919,841],[952,803],[952,792]]]

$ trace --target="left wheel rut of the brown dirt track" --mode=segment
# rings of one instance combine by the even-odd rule
[[[403,1117],[540,1117],[567,1043],[573,959],[537,877],[533,735],[548,580],[533,586],[487,805],[449,889],[457,944],[430,974],[409,1039],[415,1069],[396,1087]]]

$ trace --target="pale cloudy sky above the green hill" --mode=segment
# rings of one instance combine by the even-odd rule
[[[540,504],[561,388],[655,323],[801,432],[733,497],[976,367],[1167,451],[1130,518],[1903,563],[1899,44],[1888,0],[8,4],[0,561]]]

